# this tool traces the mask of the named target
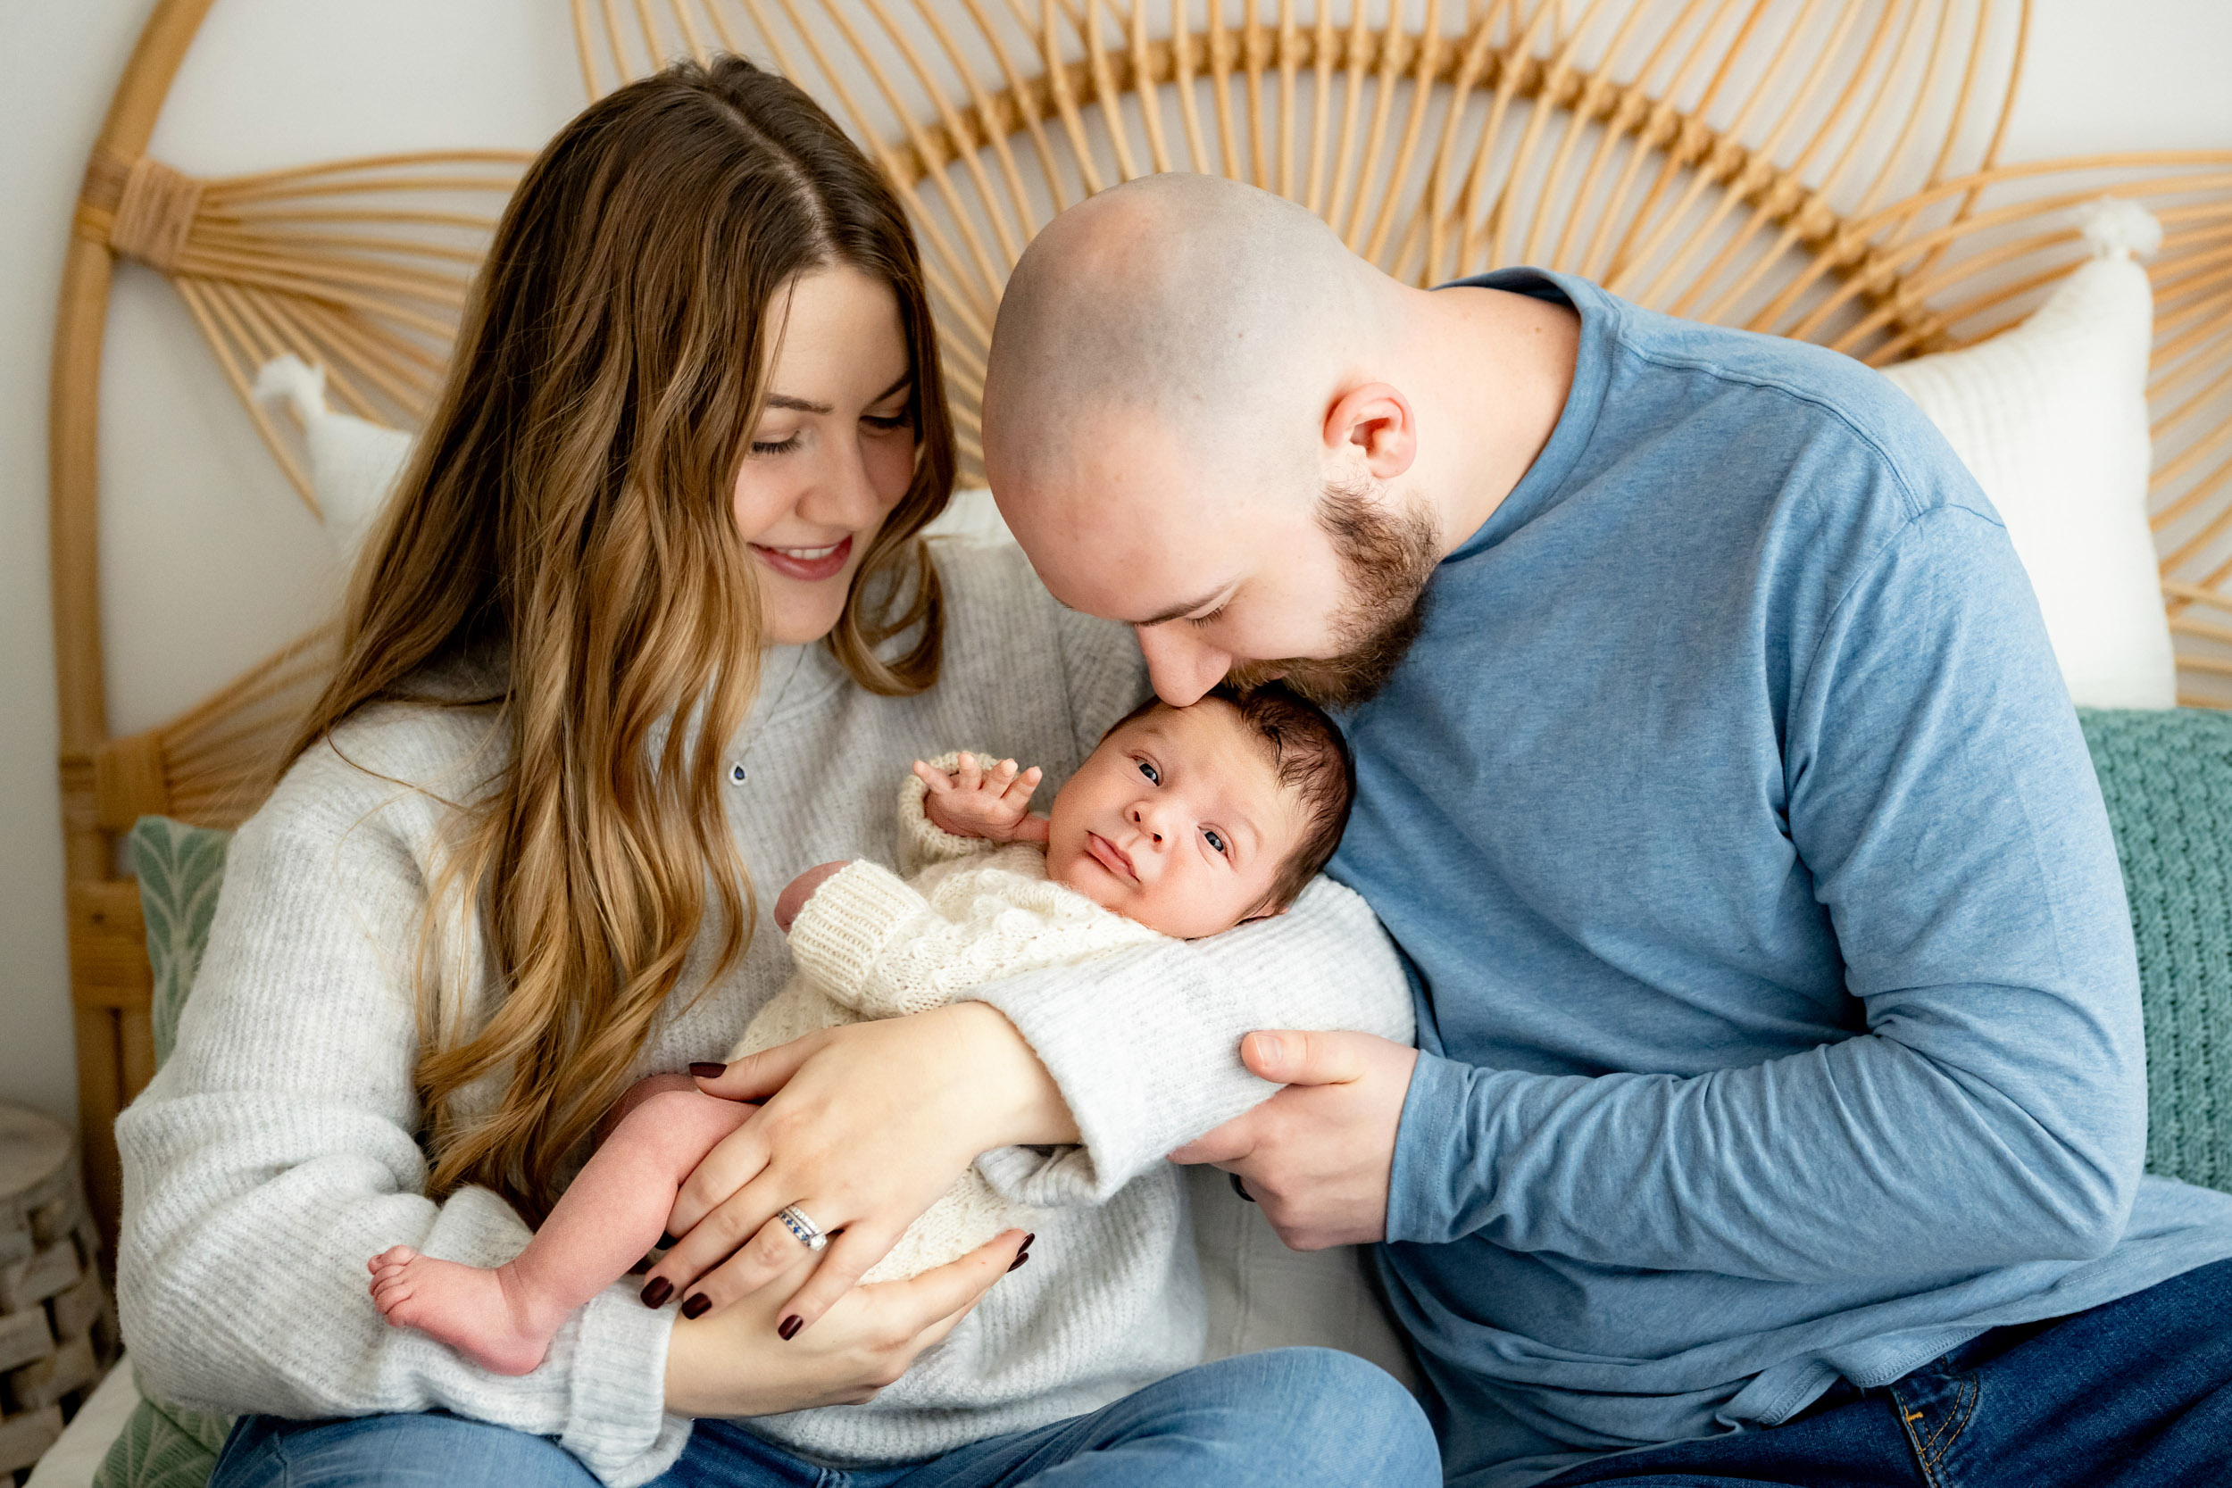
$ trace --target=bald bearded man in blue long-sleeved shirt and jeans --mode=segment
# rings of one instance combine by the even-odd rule
[[[1152,176],[1016,268],[984,462],[1165,700],[1346,709],[1420,1049],[1252,1035],[1176,1156],[1386,1240],[1451,1481],[2225,1481],[2232,1198],[2140,1178],[2098,788],[1888,384]]]

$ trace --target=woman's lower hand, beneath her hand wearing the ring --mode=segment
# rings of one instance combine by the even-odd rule
[[[879,1281],[837,1298],[804,1339],[777,1332],[786,1294],[812,1269],[806,1252],[781,1281],[734,1307],[674,1323],[667,1410],[683,1417],[763,1417],[812,1405],[859,1405],[899,1379],[995,1281],[1020,1265],[1022,1231],[989,1240],[908,1281]]]

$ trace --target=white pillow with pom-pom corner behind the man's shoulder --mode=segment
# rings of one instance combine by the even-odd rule
[[[2096,257],[2031,319],[1884,373],[2000,509],[2080,707],[2178,700],[2147,529],[2154,290],[2132,261],[2161,236],[2136,203],[2098,201],[2085,221]]]

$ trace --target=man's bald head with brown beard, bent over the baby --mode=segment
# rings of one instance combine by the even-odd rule
[[[1145,176],[1062,212],[1007,283],[984,473],[1058,600],[1136,627],[1156,692],[1368,694],[1415,634],[1435,522],[1388,366],[1415,292],[1303,207]]]

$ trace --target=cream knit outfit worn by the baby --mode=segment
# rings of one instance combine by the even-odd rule
[[[960,754],[931,763],[953,770]],[[790,924],[797,973],[728,1051],[730,1060],[817,1028],[929,1013],[960,1002],[962,993],[984,982],[1163,939],[1136,919],[1051,881],[1045,848],[1000,846],[942,830],[924,810],[926,796],[915,774],[899,785],[904,881],[877,863],[850,863],[799,910]],[[987,1156],[995,1171],[1042,1162],[1022,1151]],[[971,1167],[862,1281],[917,1276],[966,1256],[1002,1229],[1051,1223],[1047,1209],[1000,1194],[982,1167]],[[906,1381],[895,1390],[904,1392]]]

